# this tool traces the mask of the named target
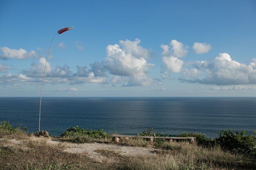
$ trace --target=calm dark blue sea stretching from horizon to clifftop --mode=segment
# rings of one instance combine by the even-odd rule
[[[0,121],[38,130],[39,97],[0,97]],[[135,135],[148,128],[208,137],[231,128],[256,130],[256,97],[43,97],[41,130],[60,135],[80,126]]]

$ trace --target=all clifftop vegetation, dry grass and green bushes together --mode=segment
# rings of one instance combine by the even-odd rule
[[[138,135],[168,136],[145,130]],[[101,162],[86,153],[68,153],[66,142],[49,142],[46,137],[34,137],[26,128],[12,127],[8,121],[0,123],[0,170],[219,170],[256,169],[256,137],[230,129],[218,132],[219,137],[207,138],[204,134],[182,133],[180,137],[196,137],[196,144],[155,140],[154,146],[144,139],[121,139],[121,144],[157,148],[153,155],[124,156],[108,149],[95,150]],[[31,137],[32,136],[32,137]],[[111,135],[104,130],[67,128],[56,140],[112,143]],[[19,139],[19,140],[16,140]]]

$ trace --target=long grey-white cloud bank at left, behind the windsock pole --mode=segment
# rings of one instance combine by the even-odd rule
[[[13,84],[17,83],[38,83],[42,81],[43,71],[45,68],[45,58],[40,58],[39,62],[33,62],[31,68],[23,70],[19,75],[8,74],[0,77],[0,84]],[[0,65],[0,69],[1,69]],[[84,83],[99,83],[107,84],[108,78],[106,77],[106,68],[99,62],[94,62],[90,65],[91,69],[86,66],[76,66],[77,71],[73,73],[70,67],[64,66],[52,67],[50,62],[47,62],[45,68],[45,83],[50,84],[84,84]],[[2,69],[1,69],[2,70]],[[3,70],[4,71],[4,68]]]

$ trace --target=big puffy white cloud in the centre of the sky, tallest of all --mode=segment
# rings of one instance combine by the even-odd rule
[[[105,67],[114,75],[121,76],[142,76],[148,73],[149,68],[154,64],[147,63],[150,58],[150,51],[139,46],[140,40],[120,41],[118,44],[107,46],[107,57]]]

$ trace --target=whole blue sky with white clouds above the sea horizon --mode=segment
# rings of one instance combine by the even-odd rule
[[[255,0],[1,0],[0,23],[0,97],[40,97],[51,41],[45,97],[256,96]]]

